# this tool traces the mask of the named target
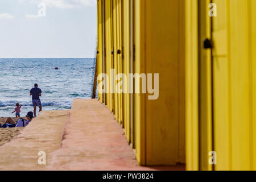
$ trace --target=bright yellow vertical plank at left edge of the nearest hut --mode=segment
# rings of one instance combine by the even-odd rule
[[[199,169],[198,2],[185,1],[186,168]]]

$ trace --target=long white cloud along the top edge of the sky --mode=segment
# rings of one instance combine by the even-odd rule
[[[26,0],[18,0],[24,2]],[[55,7],[60,9],[74,9],[79,7],[94,6],[97,0],[27,0],[30,3],[45,3],[47,7]]]

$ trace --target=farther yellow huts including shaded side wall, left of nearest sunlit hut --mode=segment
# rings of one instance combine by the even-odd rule
[[[127,91],[128,74],[133,71],[153,73],[153,80],[154,73],[160,75],[158,100],[148,100],[149,95],[142,93],[106,94],[105,104],[124,127],[139,164],[185,163],[184,1],[105,0],[104,3],[104,72],[110,75],[110,69],[117,68],[115,75],[124,73],[128,82],[123,89]],[[100,42],[100,30],[98,34]],[[118,49],[121,54],[117,54]],[[109,90],[110,86],[109,81]]]

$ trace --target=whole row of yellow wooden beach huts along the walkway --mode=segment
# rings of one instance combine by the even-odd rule
[[[150,92],[110,92],[123,77],[98,80],[106,83],[98,98],[139,165],[255,170],[256,0],[97,0],[97,7],[98,75],[159,73],[155,100]]]

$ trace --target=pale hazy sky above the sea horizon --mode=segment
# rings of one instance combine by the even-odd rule
[[[96,0],[0,0],[0,58],[94,57],[96,36]]]

